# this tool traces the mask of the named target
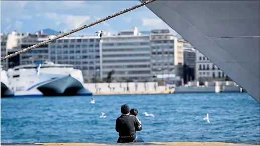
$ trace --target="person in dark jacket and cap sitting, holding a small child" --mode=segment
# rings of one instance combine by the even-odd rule
[[[119,133],[117,143],[136,142],[135,131],[141,131],[142,126],[135,116],[129,115],[130,108],[121,106],[121,116],[116,120],[116,131]]]

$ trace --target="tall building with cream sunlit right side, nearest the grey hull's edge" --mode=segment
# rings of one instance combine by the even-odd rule
[[[183,40],[174,37],[170,30],[151,31],[152,75],[182,76]]]

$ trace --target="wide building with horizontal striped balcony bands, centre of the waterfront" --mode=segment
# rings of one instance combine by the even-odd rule
[[[150,36],[141,35],[135,27],[122,31],[117,36],[102,39],[102,77],[114,70],[118,80],[129,78],[135,81],[149,80]]]

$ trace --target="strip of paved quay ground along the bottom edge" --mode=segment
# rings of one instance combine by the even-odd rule
[[[111,145],[175,145],[175,146],[245,146],[245,145],[260,145],[260,142],[254,142],[254,143],[222,143],[222,142],[168,142],[168,143],[1,143],[1,145],[62,145],[62,146],[87,146],[87,145],[97,145],[97,146],[111,146]]]

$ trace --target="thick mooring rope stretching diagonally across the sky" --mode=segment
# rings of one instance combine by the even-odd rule
[[[113,17],[116,17],[116,16],[121,15],[121,14],[123,14],[123,13],[126,13],[126,12],[128,12],[128,11],[134,10],[134,9],[136,9],[136,8],[139,8],[139,7],[141,7],[141,6],[144,6],[144,5],[149,4],[149,3],[151,3],[151,2],[154,2],[154,1],[156,1],[156,0],[148,0],[148,1],[142,2],[142,3],[140,3],[140,4],[137,4],[137,5],[133,6],[133,7],[130,7],[130,8],[128,8],[128,9],[125,9],[125,10],[123,10],[123,11],[117,12],[117,13],[115,13],[115,14],[113,14],[113,15],[110,15],[110,16],[107,16],[107,17],[102,18],[102,19],[100,19],[100,20],[94,21],[94,22],[92,22],[92,23],[90,23],[90,24],[88,24],[88,25],[84,25],[84,26],[82,26],[82,27],[79,27],[79,28],[77,28],[77,29],[71,30],[71,31],[66,32],[66,33],[64,33],[64,34],[60,34],[60,35],[58,35],[58,36],[56,36],[56,37],[54,37],[54,38],[51,38],[51,39],[49,39],[49,40],[46,40],[46,41],[44,41],[44,42],[38,43],[38,44],[33,45],[33,46],[31,46],[31,47],[25,48],[25,49],[23,49],[23,50],[20,50],[20,51],[17,51],[17,52],[15,52],[15,53],[12,53],[12,54],[10,54],[10,55],[7,55],[7,56],[5,56],[5,57],[2,57],[2,58],[1,58],[1,61],[4,61],[4,60],[6,60],[6,59],[8,59],[8,58],[11,58],[11,57],[14,57],[14,56],[16,56],[16,55],[19,55],[19,54],[24,53],[24,52],[26,52],[26,51],[32,50],[32,49],[34,49],[34,48],[40,47],[40,46],[45,45],[45,44],[47,44],[47,43],[49,43],[49,42],[52,42],[52,41],[57,40],[57,39],[59,39],[59,38],[62,38],[62,37],[64,37],[64,36],[70,35],[70,34],[72,34],[72,33],[75,33],[75,32],[77,32],[77,31],[80,31],[80,30],[82,30],[82,29],[88,28],[88,27],[90,27],[90,26],[96,25],[96,24],[101,23],[101,22],[103,22],[103,21],[105,21],[105,20],[111,19],[111,18],[113,18]]]

